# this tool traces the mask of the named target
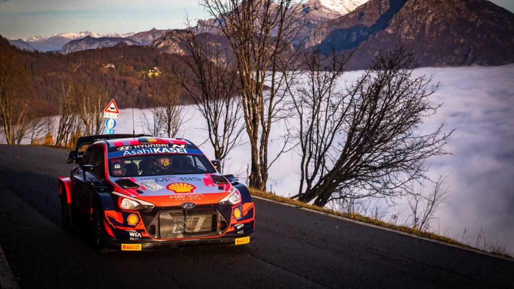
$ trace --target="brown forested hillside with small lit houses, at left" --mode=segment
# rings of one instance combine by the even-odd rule
[[[0,47],[16,52],[34,88],[33,105],[45,107],[48,114],[58,114],[63,85],[70,81],[103,87],[120,108],[149,107],[152,93],[162,90],[162,72],[178,63],[178,56],[155,47],[124,43],[68,55],[19,50],[5,38]]]

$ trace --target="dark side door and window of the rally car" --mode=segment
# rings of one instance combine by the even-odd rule
[[[90,152],[89,152],[90,151]],[[88,154],[86,156],[86,154]],[[75,207],[82,213],[83,216],[89,219],[91,214],[91,203],[94,196],[94,184],[102,182],[105,176],[104,169],[104,152],[100,146],[93,146],[87,149],[84,153],[82,165],[92,165],[93,170],[84,172],[81,170],[74,177],[75,184]],[[85,176],[85,178],[84,178]]]

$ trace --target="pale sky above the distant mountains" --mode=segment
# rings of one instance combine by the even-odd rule
[[[491,2],[514,12],[514,0]],[[0,4],[0,34],[30,38],[65,32],[128,33],[185,27],[206,19],[198,0],[8,0]]]

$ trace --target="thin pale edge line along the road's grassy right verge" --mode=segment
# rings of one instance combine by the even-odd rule
[[[482,251],[482,250],[475,249],[475,248],[464,247],[464,246],[460,246],[460,245],[456,245],[456,244],[450,244],[450,243],[447,243],[447,242],[442,242],[442,241],[439,241],[439,240],[434,240],[434,239],[430,239],[430,238],[426,238],[426,237],[421,237],[421,236],[418,236],[416,234],[411,234],[411,233],[408,233],[408,232],[399,231],[399,230],[395,230],[395,229],[391,229],[391,228],[387,228],[387,227],[377,226],[377,225],[366,223],[366,222],[360,222],[360,221],[357,221],[357,220],[352,220],[352,219],[344,218],[343,216],[338,216],[338,215],[333,215],[333,214],[329,214],[329,213],[325,213],[325,212],[320,212],[320,211],[316,211],[316,210],[313,210],[313,209],[300,207],[300,206],[297,206],[297,205],[282,203],[282,202],[270,200],[269,198],[265,198],[265,197],[261,197],[261,196],[252,195],[252,198],[258,198],[259,200],[268,201],[268,202],[272,202],[272,203],[277,203],[277,204],[285,205],[285,206],[288,206],[288,207],[295,207],[295,208],[299,208],[299,209],[302,209],[302,210],[305,210],[305,211],[309,211],[309,212],[313,212],[313,213],[317,213],[317,214],[322,214],[322,215],[326,215],[326,216],[331,216],[333,218],[340,219],[340,220],[343,220],[343,221],[352,222],[352,223],[356,223],[356,224],[360,224],[360,225],[364,225],[364,226],[368,226],[368,227],[373,227],[373,228],[377,228],[377,229],[382,229],[382,230],[386,230],[386,231],[390,231],[390,232],[395,232],[395,233],[399,233],[399,234],[402,234],[402,235],[405,235],[405,236],[410,236],[410,237],[413,237],[413,238],[416,238],[416,239],[421,239],[421,240],[430,241],[430,242],[434,242],[434,243],[438,243],[438,244],[442,244],[442,245],[447,245],[447,246],[451,246],[451,247],[454,247],[454,248],[465,249],[465,250],[468,250],[468,251],[471,251],[471,252],[475,252],[475,253],[487,255],[487,256],[490,256],[490,257],[500,258],[500,259],[503,259],[503,260],[514,262],[514,259],[512,259],[512,258],[509,258],[509,257],[506,257],[506,256],[502,256],[502,255],[492,254],[490,252]]]

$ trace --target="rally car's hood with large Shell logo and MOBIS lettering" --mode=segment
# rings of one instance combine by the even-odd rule
[[[129,178],[139,185],[135,189],[119,191],[139,200],[150,202],[156,206],[179,206],[183,202],[199,204],[218,203],[233,189],[230,183],[215,184],[211,175],[219,174],[187,174],[138,176]],[[109,178],[113,184],[119,178]]]

